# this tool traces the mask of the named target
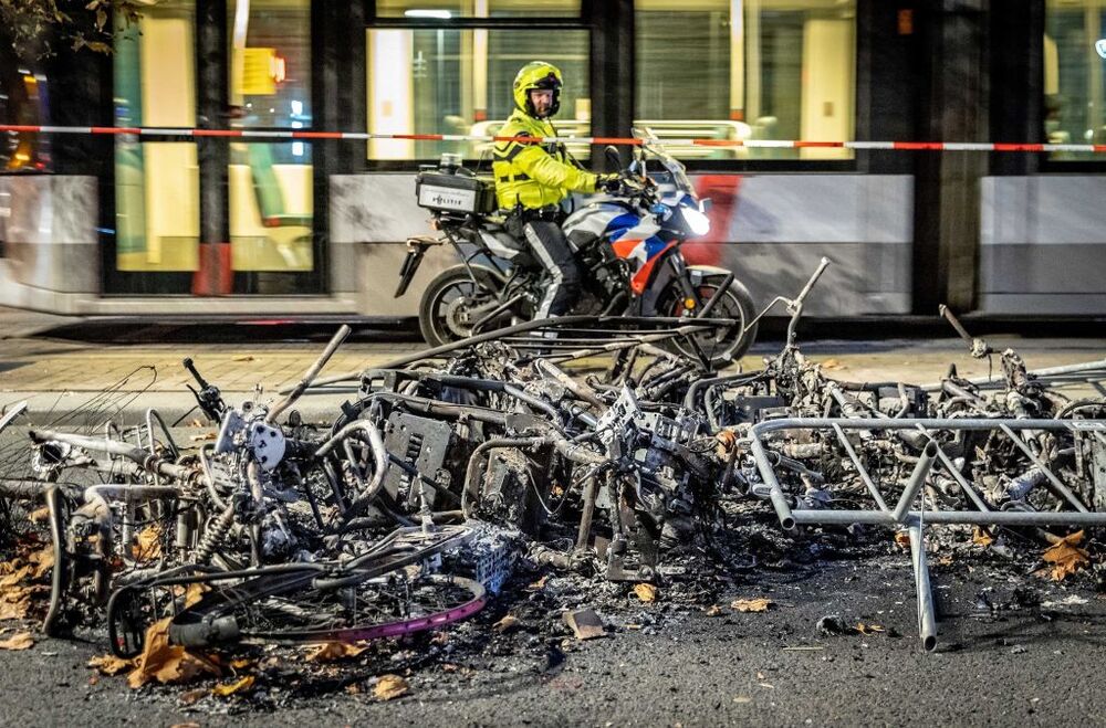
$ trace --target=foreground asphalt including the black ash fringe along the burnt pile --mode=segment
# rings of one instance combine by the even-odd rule
[[[1033,557],[1010,557],[1034,549],[1001,548],[1016,534],[983,548],[970,532],[935,532],[941,642],[926,654],[908,552],[886,531],[790,537],[763,514],[745,523],[713,553],[676,559],[691,576],[662,584],[654,603],[632,584],[522,567],[476,619],[439,633],[323,665],[302,650],[247,652],[254,687],[228,698],[202,690],[212,680],[133,692],[123,677],[96,676],[85,663],[106,652],[102,634],[0,651],[0,720],[1005,725],[1103,715],[1106,601],[1096,572],[1053,582],[1032,574]],[[772,604],[730,606],[753,598]],[[580,641],[565,626],[562,611],[583,606],[604,620],[604,636]],[[507,614],[518,623],[501,629]],[[827,616],[844,629],[820,630]],[[376,700],[385,674],[405,677],[409,693]]]

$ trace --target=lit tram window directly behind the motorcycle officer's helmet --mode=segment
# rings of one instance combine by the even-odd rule
[[[513,110],[511,83],[531,59],[561,68],[565,85],[553,120],[561,136],[591,133],[587,31],[386,29],[367,31],[368,131],[494,136]],[[437,159],[458,152],[478,160],[483,141],[371,139],[376,160]],[[577,158],[587,145],[568,145]]]

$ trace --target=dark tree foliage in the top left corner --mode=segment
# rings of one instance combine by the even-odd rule
[[[113,15],[128,27],[140,9],[138,0],[0,0],[0,28],[23,59],[53,55],[59,45],[111,53]]]

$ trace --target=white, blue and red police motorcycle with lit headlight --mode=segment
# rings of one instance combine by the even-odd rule
[[[620,166],[607,147],[608,161]],[[680,250],[710,231],[707,202],[699,200],[682,163],[643,145],[622,172],[617,193],[599,194],[562,223],[582,273],[582,295],[572,314],[732,319],[731,326],[697,335],[696,345],[716,367],[737,361],[757,337],[752,297],[733,273],[691,265]],[[450,244],[461,263],[439,273],[419,303],[419,328],[430,346],[530,320],[544,293],[544,268],[510,218],[495,209],[494,181],[478,177],[446,155],[424,167],[416,182],[419,207],[441,235],[407,241],[396,297],[403,296],[427,250]],[[679,339],[680,354],[695,356]]]

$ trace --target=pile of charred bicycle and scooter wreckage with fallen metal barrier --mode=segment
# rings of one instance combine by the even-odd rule
[[[711,615],[724,608],[695,583],[711,562],[783,559],[773,539],[803,527],[821,528],[826,550],[863,538],[856,525],[883,527],[910,552],[930,650],[935,529],[977,542],[1013,529],[1050,546],[1045,576],[1086,568],[1082,529],[1106,525],[1106,398],[1052,383],[1100,378],[1106,362],[1034,373],[1008,350],[997,381],[954,367],[927,387],[841,381],[795,341],[810,288],[781,299],[789,340],[758,371],[712,369],[731,320],[565,317],[358,372],[357,397],[324,425],[293,408],[345,327],[274,403],[228,405],[185,360],[212,441],[181,447],[152,411],[129,429],[32,426],[2,451],[0,524],[39,550],[0,573],[0,615],[33,616],[49,591],[46,633],[106,626],[101,671],[133,685],[206,673],[229,695],[252,680],[205,651],[310,643],[311,661],[356,656],[473,616],[520,565],[528,578],[625,584],[640,605],[660,589]],[[947,316],[974,356],[995,355]],[[737,528],[742,553],[717,540]],[[489,631],[528,619],[525,603],[511,609],[519,595],[499,598],[510,611]],[[605,632],[597,602],[562,594],[581,640]],[[380,699],[407,689],[385,677]]]

